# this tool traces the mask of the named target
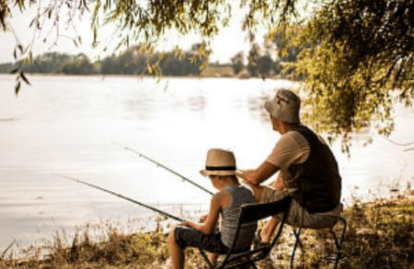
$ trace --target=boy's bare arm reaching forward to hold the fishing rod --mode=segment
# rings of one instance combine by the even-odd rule
[[[223,201],[223,194],[220,192],[213,195],[210,203],[210,211],[204,223],[195,223],[193,221],[184,221],[181,225],[193,227],[195,230],[204,233],[205,235],[211,235],[219,219],[219,214],[221,210],[221,203]]]

